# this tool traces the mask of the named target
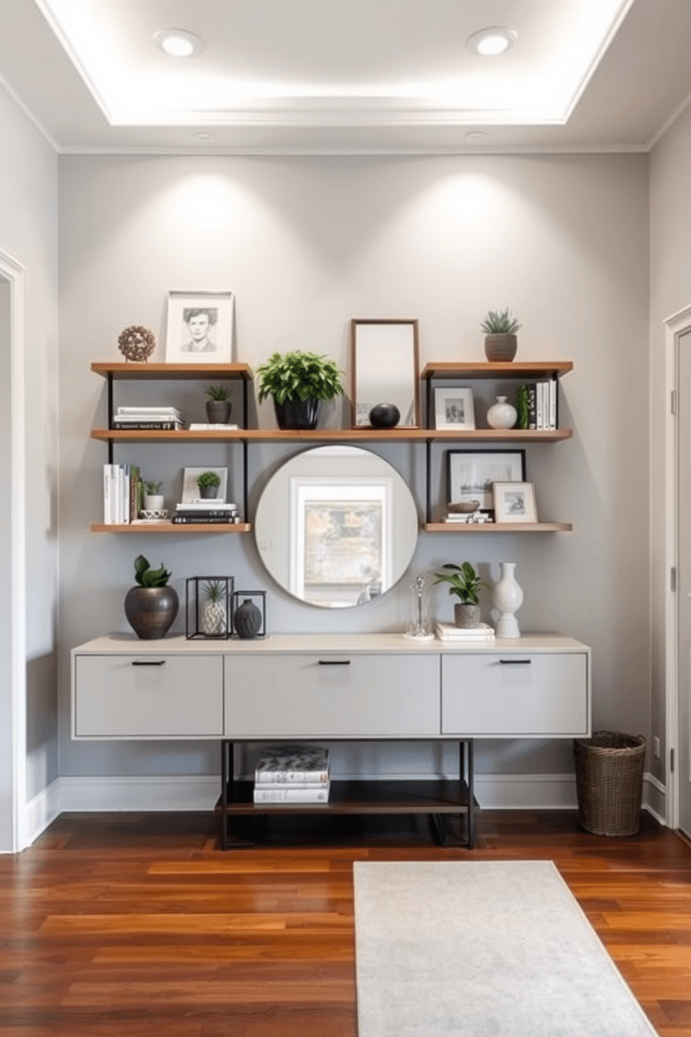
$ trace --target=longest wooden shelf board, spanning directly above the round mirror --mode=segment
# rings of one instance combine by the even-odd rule
[[[558,443],[573,437],[571,428],[551,431],[523,428],[323,428],[299,431],[280,428],[178,430],[162,428],[92,428],[91,439],[104,443]]]

